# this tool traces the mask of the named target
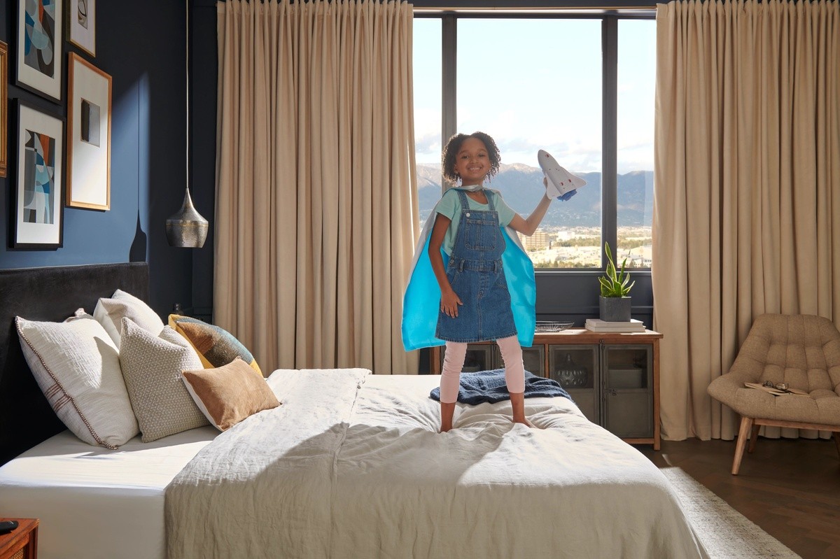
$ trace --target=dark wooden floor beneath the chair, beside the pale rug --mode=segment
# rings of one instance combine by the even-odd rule
[[[733,476],[734,441],[662,441],[654,464],[682,468],[804,559],[840,559],[840,457],[832,440],[765,439]]]

